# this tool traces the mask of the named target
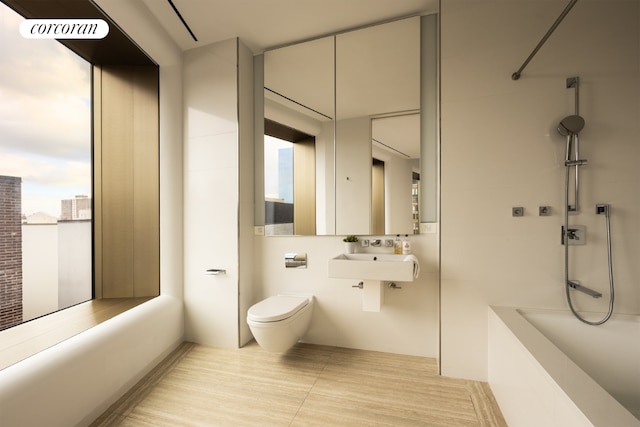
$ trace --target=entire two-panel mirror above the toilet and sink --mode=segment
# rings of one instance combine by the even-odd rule
[[[266,235],[417,231],[419,17],[266,52],[264,112]]]

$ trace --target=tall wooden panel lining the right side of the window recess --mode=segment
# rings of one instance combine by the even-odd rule
[[[160,293],[158,71],[102,69],[102,296]],[[96,180],[98,181],[98,180]]]

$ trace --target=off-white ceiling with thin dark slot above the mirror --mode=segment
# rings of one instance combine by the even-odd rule
[[[141,0],[182,50],[239,37],[255,54],[400,17],[434,13],[438,0]]]

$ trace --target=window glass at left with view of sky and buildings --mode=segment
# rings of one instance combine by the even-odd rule
[[[93,293],[91,64],[23,19],[0,3],[0,329]]]

